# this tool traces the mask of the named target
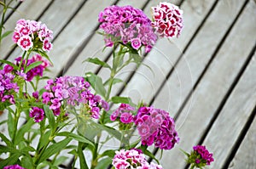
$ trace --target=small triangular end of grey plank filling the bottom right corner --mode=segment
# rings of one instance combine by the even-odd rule
[[[255,62],[255,61],[254,61]],[[255,63],[254,63],[255,65]],[[255,75],[254,75],[255,77]],[[243,113],[243,112],[241,112]],[[232,120],[233,121],[233,120]],[[231,161],[229,168],[233,169],[254,169],[256,166],[256,118],[254,117],[253,123],[249,128],[246,137],[243,139],[240,148],[236,152],[236,156]]]

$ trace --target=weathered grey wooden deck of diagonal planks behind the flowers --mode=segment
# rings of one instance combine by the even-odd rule
[[[100,2],[100,3],[99,3]],[[108,76],[106,70],[81,64],[87,57],[111,61],[111,50],[95,33],[97,16],[112,4],[149,8],[160,0],[26,0],[9,13],[6,29],[16,20],[40,20],[54,31],[49,53],[55,67],[49,76],[83,76],[85,71]],[[125,68],[113,94],[143,99],[175,117],[181,138],[175,149],[165,151],[165,169],[188,168],[180,149],[205,144],[215,161],[209,168],[256,168],[256,2],[254,0],[170,0],[183,9],[182,35],[172,42],[159,39],[143,63]],[[5,38],[0,59],[13,60],[20,49]],[[4,118],[1,115],[0,118]],[[4,128],[1,128],[4,132]],[[156,149],[152,149],[160,157]],[[79,166],[78,166],[79,168]]]

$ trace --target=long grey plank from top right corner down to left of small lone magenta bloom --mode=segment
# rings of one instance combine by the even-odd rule
[[[253,45],[255,44],[256,35],[253,32],[256,29],[256,25],[252,24],[255,22],[247,20],[247,18],[250,18],[252,21],[256,20],[255,17],[252,17],[256,16],[255,12],[255,4],[252,4],[252,2],[248,3],[247,8],[243,10],[239,20],[237,20],[236,25],[234,25],[222,48],[218,51],[216,58],[212,60],[212,64],[203,76],[198,87],[195,88],[193,97],[190,98],[188,102],[193,103],[192,106],[186,104],[176,121],[177,132],[181,138],[181,142],[176,149],[172,149],[170,152],[164,152],[163,159],[161,160],[164,167],[166,166],[166,161],[170,161],[171,159],[183,159],[184,156],[178,148],[190,151],[192,146],[199,142],[202,134],[206,131],[208,124],[218,109],[218,105],[222,102],[224,95],[236,78],[241,66],[245,63],[250,52],[249,50],[253,48]],[[241,29],[243,30],[242,32]],[[243,32],[247,33],[244,34]],[[253,91],[255,91],[254,87],[251,87],[248,91],[249,93],[253,93]],[[242,102],[242,104],[247,103]],[[230,109],[231,107],[232,105],[230,106]],[[241,118],[241,116],[239,118]],[[212,147],[214,144],[220,145],[222,142],[225,142],[224,139],[221,138],[223,134],[217,134],[220,130],[234,133],[225,129],[225,125],[229,122],[219,126],[222,127],[221,129],[218,128],[218,130],[212,132],[211,135],[218,135],[216,137],[220,137],[219,139],[214,139],[214,142],[212,141],[210,144],[209,142],[211,141],[211,138],[208,138],[209,141],[205,143],[207,144],[207,147],[214,152],[218,165],[222,165],[222,160],[219,159],[218,155],[220,154],[220,151],[214,151]],[[235,127],[236,126],[232,127],[233,130],[240,132],[239,128]],[[231,141],[234,139],[228,138],[228,140]],[[219,148],[220,147],[218,147],[218,149]],[[223,151],[223,149],[226,148],[221,147],[220,149],[222,151],[221,154],[226,155],[225,151]],[[215,165],[217,164],[215,163]],[[172,166],[174,168],[182,168],[185,166],[185,163],[183,161],[173,161]],[[215,166],[213,168],[221,167]]]

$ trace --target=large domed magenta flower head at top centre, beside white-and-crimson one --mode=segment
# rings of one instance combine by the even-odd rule
[[[157,40],[151,20],[141,9],[113,5],[105,8],[98,20],[108,47],[114,42],[129,43],[136,50],[144,46],[148,53]]]

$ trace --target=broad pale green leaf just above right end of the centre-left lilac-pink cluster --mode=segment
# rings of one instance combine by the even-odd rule
[[[106,89],[100,76],[96,76],[96,74],[88,72],[85,73],[85,78],[88,82],[90,82],[91,87],[95,89],[96,93],[99,93],[102,96],[106,95]]]

